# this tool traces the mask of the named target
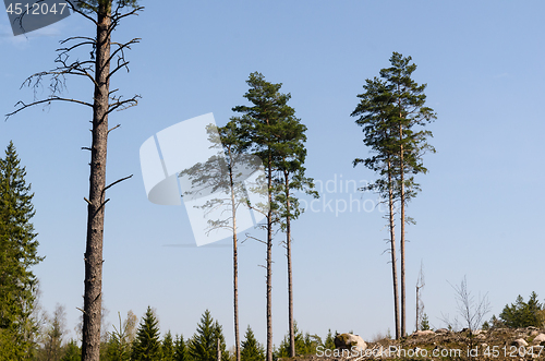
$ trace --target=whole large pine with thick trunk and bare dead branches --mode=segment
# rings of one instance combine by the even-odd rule
[[[57,68],[28,76],[23,86],[34,89],[34,101],[19,101],[16,110],[7,118],[23,109],[40,104],[50,105],[62,100],[84,105],[93,109],[92,144],[83,149],[90,151],[89,195],[84,197],[87,203],[87,239],[84,254],[85,292],[83,310],[83,342],[82,360],[97,361],[100,351],[100,316],[102,288],[102,240],[106,191],[112,185],[132,176],[121,178],[106,185],[106,159],[109,133],[119,128],[108,127],[108,116],[116,110],[123,110],[137,104],[138,95],[123,98],[117,95],[118,88],[110,91],[110,81],[120,70],[129,71],[125,50],[137,44],[140,38],[126,43],[111,41],[112,32],[128,16],[136,15],[144,8],[136,0],[66,0],[72,11],[90,21],[96,28],[96,36],[72,36],[61,41],[55,60]],[[88,60],[72,60],[71,57],[84,48],[90,48]],[[76,58],[77,59],[77,58]],[[93,84],[93,100],[86,101],[61,96],[68,75],[83,76]],[[36,91],[43,86],[45,79],[49,80],[50,95],[45,99],[36,98]]]

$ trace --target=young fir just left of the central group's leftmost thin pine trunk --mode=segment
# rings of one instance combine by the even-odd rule
[[[210,311],[206,310],[201,322],[197,325],[197,332],[189,341],[187,351],[193,360],[198,361],[216,361],[218,351],[218,341],[221,352],[221,360],[229,360],[229,352],[226,351],[226,340],[223,338],[222,327],[210,315]]]

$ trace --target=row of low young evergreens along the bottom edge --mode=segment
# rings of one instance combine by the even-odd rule
[[[195,334],[190,338],[167,332],[162,337],[157,315],[152,308],[136,325],[136,316],[129,311],[124,321],[120,317],[119,327],[108,333],[100,347],[104,361],[234,361],[235,350],[227,350],[223,328],[206,310],[197,324]],[[74,339],[64,341],[66,334],[64,308],[58,305],[53,316],[41,329],[35,350],[28,360],[36,361],[80,361],[81,347]],[[334,349],[334,335],[329,330],[323,341],[317,335],[303,334],[294,323],[295,350],[298,354],[315,354],[316,347]],[[290,342],[287,334],[274,358],[289,357]],[[240,357],[243,361],[264,361],[265,347],[257,341],[250,327],[241,341]]]

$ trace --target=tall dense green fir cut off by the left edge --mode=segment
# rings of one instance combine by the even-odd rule
[[[38,256],[31,184],[25,181],[15,146],[0,158],[0,353],[20,359],[34,349],[37,324],[33,311],[38,280],[32,267]]]

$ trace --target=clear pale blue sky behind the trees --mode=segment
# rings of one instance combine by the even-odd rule
[[[410,204],[417,221],[408,231],[409,330],[414,323],[414,286],[421,261],[425,310],[456,314],[453,290],[468,276],[475,294],[488,292],[498,314],[520,293],[543,301],[545,179],[542,111],[545,24],[542,1],[142,1],[145,11],[113,34],[117,41],[141,37],[128,53],[130,74],[112,81],[136,108],[111,116],[108,180],[134,173],[109,191],[104,251],[104,297],[116,322],[129,310],[141,317],[157,309],[161,332],[195,332],[209,309],[233,340],[231,250],[166,246],[192,244],[183,207],[146,198],[138,149],[156,132],[207,112],[219,125],[244,104],[245,80],[254,71],[283,83],[291,106],[308,128],[307,173],[326,184],[320,212],[294,224],[294,312],[303,330],[327,329],[370,338],[393,329],[391,272],[384,214],[335,214],[335,203],[376,202],[373,194],[340,192],[340,180],[373,180],[352,168],[365,157],[363,133],[350,113],[365,79],[388,67],[392,51],[412,56],[414,79],[427,83],[427,105],[437,112],[428,127],[437,154],[428,155],[422,193]],[[92,36],[77,16],[14,38],[0,17],[1,113],[17,100],[24,79],[53,68],[58,41]],[[68,80],[68,95],[90,99],[83,80]],[[47,88],[38,96],[47,96]],[[41,303],[68,311],[72,329],[83,304],[83,253],[88,192],[90,113],[69,104],[26,110],[0,122],[0,147],[13,140],[36,193],[34,224],[46,260],[35,273]],[[337,179],[337,192],[332,181]],[[368,200],[368,201],[366,201]],[[331,201],[334,212],[328,209]],[[353,203],[355,205],[355,203]],[[284,250],[274,248],[274,332],[278,345],[288,329]],[[228,245],[228,241],[220,242]],[[247,241],[240,252],[240,323],[265,341],[265,248]],[[492,316],[492,313],[488,316]],[[72,333],[72,335],[74,335]]]

